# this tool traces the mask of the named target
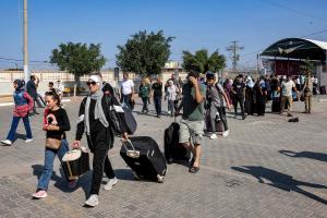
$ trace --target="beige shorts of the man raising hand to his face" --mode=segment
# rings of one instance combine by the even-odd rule
[[[203,141],[204,121],[181,120],[179,143],[189,143],[192,140],[193,145],[201,145]],[[191,138],[192,137],[192,138]]]

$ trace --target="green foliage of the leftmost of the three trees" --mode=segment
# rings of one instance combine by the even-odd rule
[[[56,63],[61,71],[75,75],[76,80],[85,74],[98,72],[105,65],[106,59],[101,55],[100,45],[90,44],[60,44],[52,50],[50,63]]]

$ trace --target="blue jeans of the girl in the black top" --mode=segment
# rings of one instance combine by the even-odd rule
[[[61,145],[58,150],[46,148],[44,172],[38,180],[37,190],[48,190],[49,182],[52,177],[56,154],[58,155],[58,158],[61,162],[62,157],[66,152],[69,152],[69,143],[66,142],[66,140],[61,141]]]

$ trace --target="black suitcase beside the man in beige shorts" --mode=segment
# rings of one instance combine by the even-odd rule
[[[189,162],[190,152],[179,143],[180,124],[173,122],[165,130],[165,157],[168,164]]]

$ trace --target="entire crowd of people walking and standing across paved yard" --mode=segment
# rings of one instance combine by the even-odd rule
[[[312,112],[315,78],[311,80],[310,72],[306,72],[306,77],[301,77],[271,75],[254,80],[240,74],[234,80],[221,81],[210,71],[206,72],[205,76],[201,76],[197,71],[191,71],[184,83],[172,75],[165,85],[160,76],[157,76],[153,83],[149,77],[144,77],[138,88],[138,96],[143,102],[141,112],[148,113],[148,105],[153,100],[156,116],[160,118],[164,97],[168,101],[168,114],[182,116],[179,143],[193,154],[189,171],[196,173],[199,171],[204,130],[209,133],[210,140],[217,138],[217,134],[221,134],[223,137],[228,136],[226,112],[231,109],[231,106],[234,108],[235,118],[239,116],[238,107],[240,106],[243,120],[246,116],[255,113],[265,116],[266,102],[269,100],[272,101],[272,111],[276,108],[276,112],[283,113],[287,109],[288,114],[291,116],[293,100],[300,99],[302,96],[305,101],[305,112]],[[108,150],[112,147],[114,140],[111,120],[108,117],[108,102],[114,101],[118,105],[118,100],[120,100],[122,107],[133,110],[135,87],[128,73],[123,74],[120,95],[117,95],[110,84],[102,82],[100,74],[90,75],[86,84],[89,95],[81,102],[75,141],[72,143],[72,147],[81,147],[81,140],[85,133],[88,147],[94,154],[92,187],[85,204],[94,207],[99,204],[98,195],[102,173],[105,172],[108,177],[105,190],[110,190],[118,182],[108,158]],[[37,114],[35,102],[38,98],[38,80],[32,75],[26,88],[21,80],[15,80],[13,86],[15,104],[13,120],[7,140],[1,141],[5,145],[12,144],[21,118],[26,130],[26,143],[33,141],[28,116]],[[55,157],[57,155],[61,161],[63,155],[69,150],[65,133],[70,131],[71,125],[66,111],[61,105],[60,81],[57,88],[50,82],[49,90],[45,96],[47,106],[43,123],[47,138],[45,165],[36,192],[32,195],[34,198],[47,196]],[[122,137],[128,138],[128,134],[123,133]],[[74,187],[76,180],[69,180],[68,183],[70,187]]]

